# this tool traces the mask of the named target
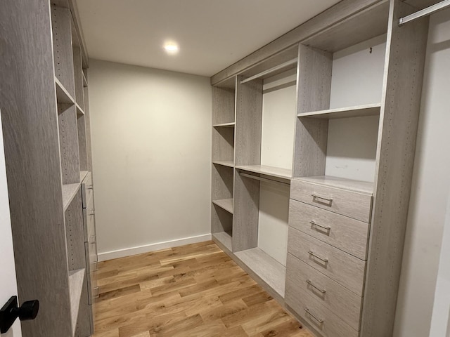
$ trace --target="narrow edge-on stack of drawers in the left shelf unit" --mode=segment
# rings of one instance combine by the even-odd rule
[[[94,214],[94,188],[91,173],[82,181],[84,249],[86,251],[86,272],[89,293],[89,305],[94,309],[94,299],[98,297],[95,272],[97,270],[97,237]],[[94,312],[94,310],[92,311]],[[91,317],[91,331],[94,333],[94,315]]]

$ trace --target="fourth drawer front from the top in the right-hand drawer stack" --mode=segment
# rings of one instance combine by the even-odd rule
[[[309,293],[353,329],[359,330],[362,297],[291,254],[288,254],[286,264],[286,289],[288,287],[292,288],[290,291],[293,293]]]

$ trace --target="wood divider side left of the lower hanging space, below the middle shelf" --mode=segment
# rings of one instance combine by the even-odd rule
[[[234,179],[233,251],[255,248],[258,243],[259,181],[240,174]]]

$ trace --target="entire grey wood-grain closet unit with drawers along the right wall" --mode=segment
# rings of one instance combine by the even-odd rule
[[[428,35],[426,18],[402,27],[398,20],[415,11],[399,0],[341,1],[211,79],[212,237],[320,336],[392,336]],[[379,100],[330,107],[333,54],[380,36]],[[290,170],[262,165],[261,120],[264,77],[284,71],[292,58],[297,113]],[[366,181],[327,174],[329,142],[348,136],[330,138],[328,127],[354,118],[378,120]],[[348,164],[357,171],[352,159],[361,154],[352,155]],[[266,180],[290,184],[285,266],[258,248]]]

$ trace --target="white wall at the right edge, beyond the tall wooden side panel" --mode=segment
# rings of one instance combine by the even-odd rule
[[[394,336],[428,336],[450,189],[450,11],[431,16]],[[449,257],[446,256],[446,263]],[[443,336],[436,336],[443,337]]]

